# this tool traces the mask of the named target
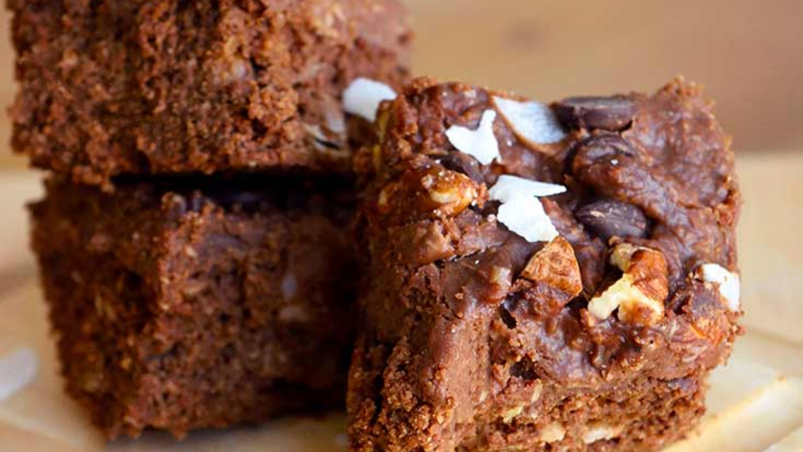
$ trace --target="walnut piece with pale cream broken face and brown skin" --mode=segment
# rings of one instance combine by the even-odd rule
[[[622,277],[589,302],[589,312],[604,320],[618,309],[622,322],[654,325],[664,316],[669,296],[666,259],[654,249],[618,244],[610,257],[622,269]]]

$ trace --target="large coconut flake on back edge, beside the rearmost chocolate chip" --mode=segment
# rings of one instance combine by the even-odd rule
[[[494,97],[494,104],[516,136],[535,144],[560,142],[566,132],[549,105]]]

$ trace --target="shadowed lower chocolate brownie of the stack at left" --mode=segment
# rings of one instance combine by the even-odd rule
[[[31,206],[67,392],[109,438],[343,406],[353,195],[272,179],[51,180]]]

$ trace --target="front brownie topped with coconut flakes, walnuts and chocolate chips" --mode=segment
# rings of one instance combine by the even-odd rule
[[[358,452],[658,450],[740,334],[731,139],[695,84],[417,80],[361,151]]]

